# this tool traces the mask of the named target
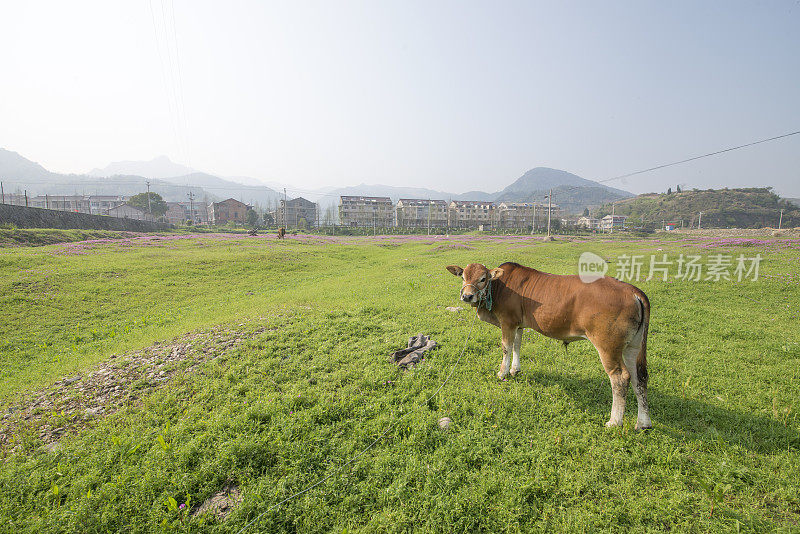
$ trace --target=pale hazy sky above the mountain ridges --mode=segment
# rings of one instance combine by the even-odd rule
[[[58,172],[494,191],[800,130],[797,1],[8,1],[0,49],[0,147]],[[800,135],[609,185],[678,183],[800,197]]]

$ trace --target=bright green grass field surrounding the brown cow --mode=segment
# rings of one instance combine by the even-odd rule
[[[611,389],[588,342],[565,354],[526,332],[523,374],[501,382],[499,330],[445,310],[460,287],[446,265],[573,274],[587,250],[609,274],[622,254],[764,257],[757,281],[637,283],[652,304],[648,433],[633,430],[632,393],[625,426],[604,427]],[[0,532],[237,532],[331,474],[248,532],[797,532],[799,266],[797,239],[209,234],[0,249]],[[201,350],[214,327],[238,341]],[[420,332],[441,347],[399,371],[388,355]],[[20,415],[65,377],[192,333],[168,380],[130,383],[121,393],[147,393],[55,447],[42,428],[83,420],[68,399]],[[228,485],[241,502],[224,520],[193,515]]]

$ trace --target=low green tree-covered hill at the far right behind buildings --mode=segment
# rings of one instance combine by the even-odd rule
[[[662,221],[683,221],[684,226],[697,226],[703,212],[704,228],[776,228],[783,209],[783,227],[800,226],[800,208],[782,199],[771,187],[745,189],[706,189],[679,193],[649,193],[616,202],[618,215],[631,217],[631,224],[659,226]],[[600,208],[598,215],[611,213],[611,204]]]

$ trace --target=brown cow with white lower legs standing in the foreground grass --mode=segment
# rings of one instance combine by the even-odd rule
[[[478,317],[500,327],[503,363],[498,378],[520,372],[523,328],[565,344],[588,339],[600,354],[611,380],[613,402],[606,426],[622,425],[625,396],[633,382],[639,414],[637,429],[652,428],[647,406],[647,328],[650,302],[637,287],[605,276],[591,283],[578,276],[543,273],[517,263],[487,269],[470,263],[447,270],[461,276],[461,300],[477,308]]]

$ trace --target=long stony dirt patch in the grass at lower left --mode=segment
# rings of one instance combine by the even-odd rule
[[[191,333],[169,343],[115,354],[83,374],[28,393],[0,408],[0,457],[26,448],[26,442],[56,450],[62,436],[77,434],[98,418],[137,403],[176,374],[191,373],[236,347],[244,337],[265,330],[217,327]]]

